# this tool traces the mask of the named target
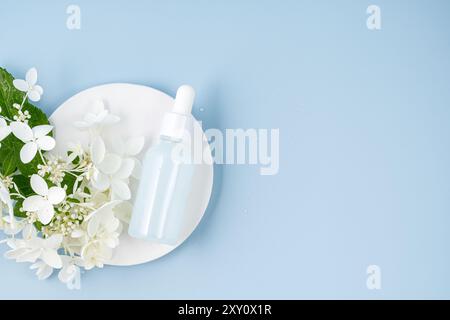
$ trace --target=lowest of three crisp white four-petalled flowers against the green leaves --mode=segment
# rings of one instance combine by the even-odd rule
[[[37,195],[26,198],[22,208],[35,212],[40,222],[48,224],[55,215],[54,205],[60,204],[66,197],[66,190],[60,187],[48,188],[47,182],[37,174],[31,176],[31,188]]]

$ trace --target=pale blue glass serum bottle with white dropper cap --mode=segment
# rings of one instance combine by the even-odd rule
[[[179,154],[190,148],[180,148],[179,144],[183,143],[194,97],[192,87],[178,89],[173,110],[164,117],[158,143],[144,156],[128,228],[131,237],[167,245],[182,240],[194,164],[191,154]]]

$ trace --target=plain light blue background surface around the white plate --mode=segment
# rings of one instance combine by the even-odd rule
[[[81,30],[66,28],[69,4]],[[2,258],[0,298],[450,298],[449,9],[2,0],[0,65],[38,68],[48,114],[98,84],[189,83],[206,128],[279,128],[281,145],[275,176],[216,166],[205,218],[171,254],[87,272],[81,291]]]

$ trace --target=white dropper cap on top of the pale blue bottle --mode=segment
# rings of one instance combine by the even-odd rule
[[[191,86],[182,85],[177,90],[177,96],[172,112],[166,113],[161,126],[161,135],[173,139],[181,139],[187,120],[192,112],[195,91]]]

